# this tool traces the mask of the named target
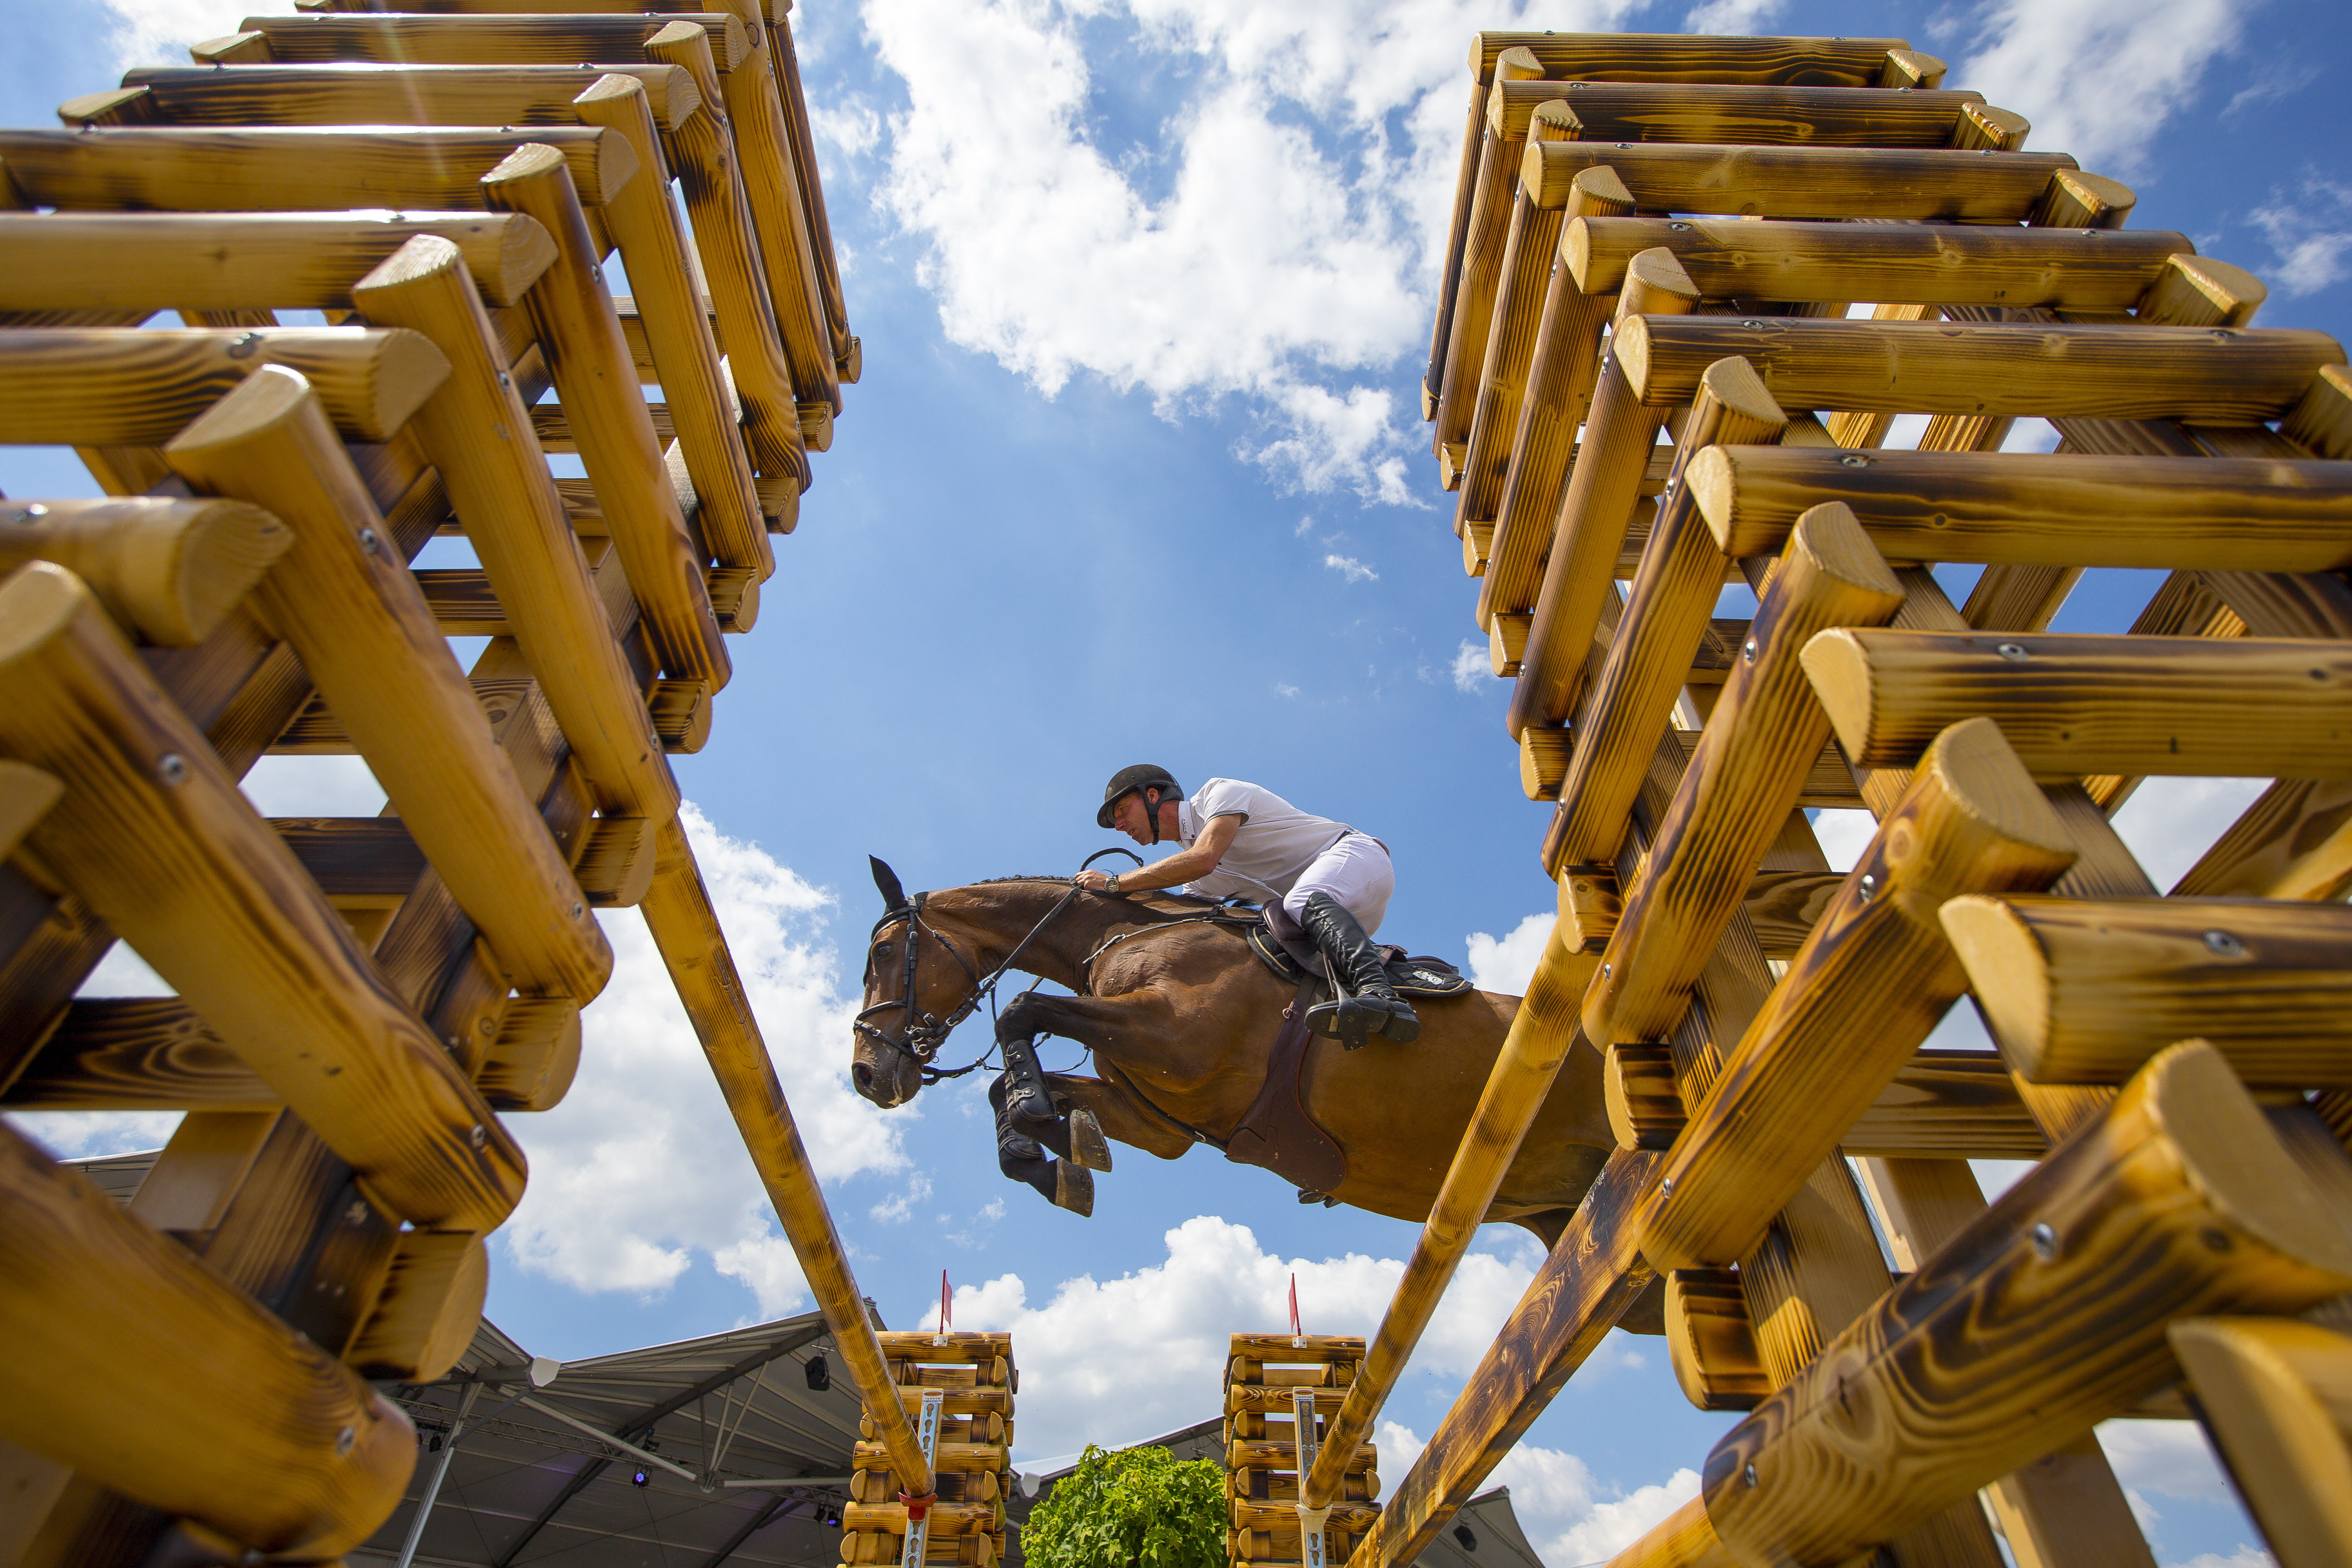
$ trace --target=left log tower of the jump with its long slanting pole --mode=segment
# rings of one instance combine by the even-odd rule
[[[597,907],[644,912],[861,1472],[934,1490],[922,1356],[868,1321],[668,764],[861,369],[783,7],[419,5],[247,19],[0,132],[0,442],[106,491],[0,501],[0,1105],[183,1112],[127,1208],[0,1133],[12,1556],[381,1526],[416,1441],[367,1380],[480,1319],[499,1112],[572,1084]],[[414,571],[435,534],[477,567]],[[358,752],[390,806],[263,820],[273,750]],[[75,999],[118,938],[176,994]]]

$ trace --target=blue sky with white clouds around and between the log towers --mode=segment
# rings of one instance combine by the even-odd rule
[[[183,59],[240,14],[0,9],[19,40],[0,59],[9,125],[47,125],[64,96]],[[976,1088],[856,1103],[866,856],[910,889],[1065,872],[1108,842],[1091,809],[1112,769],[1242,776],[1395,846],[1383,936],[1517,987],[1541,936],[1524,922],[1552,907],[1545,809],[1517,792],[1416,418],[1479,26],[1907,35],[1952,61],[1950,85],[2034,120],[2030,146],[2133,183],[2136,228],[2270,280],[2263,324],[2352,327],[2352,174],[2326,118],[2352,63],[2338,7],[807,0],[866,376],[734,644],[715,738],[677,773],[863,1288],[913,1324],[946,1267],[962,1326],[1021,1333],[1030,1458],[1209,1415],[1223,1335],[1277,1326],[1294,1269],[1310,1328],[1367,1331],[1414,1227],[1301,1208],[1211,1152],[1134,1150],[1077,1220],[1000,1180]],[[0,489],[89,487],[71,454],[0,449]],[[2058,625],[2122,630],[2150,588],[2093,574]],[[381,802],[348,762],[270,762],[249,788],[278,813]],[[2129,837],[2164,882],[2251,788],[2150,785]],[[621,971],[572,1100],[517,1119],[534,1185],[494,1246],[492,1316],[553,1356],[807,1305],[642,924],[607,924]],[[127,964],[103,983],[158,985]],[[948,1053],[978,1053],[981,1027]],[[38,1131],[96,1152],[167,1126]],[[1534,1262],[1522,1232],[1482,1239],[1390,1408],[1390,1479]],[[1498,1479],[1571,1568],[1691,1495],[1726,1425],[1682,1401],[1658,1340],[1613,1335]],[[2159,1561],[2251,1561],[2192,1427],[2105,1436]]]

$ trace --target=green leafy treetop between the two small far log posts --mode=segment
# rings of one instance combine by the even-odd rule
[[[1178,1462],[1167,1448],[1105,1453],[1087,1443],[1077,1469],[1030,1509],[1028,1568],[1223,1568],[1225,1472]]]

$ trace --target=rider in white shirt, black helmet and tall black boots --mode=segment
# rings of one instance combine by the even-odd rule
[[[1409,1044],[1421,1018],[1397,997],[1371,933],[1381,929],[1397,872],[1388,844],[1345,823],[1310,816],[1272,790],[1211,778],[1192,799],[1150,762],[1124,766],[1103,785],[1094,813],[1136,844],[1176,842],[1176,853],[1131,872],[1082,870],[1073,882],[1098,893],[1183,889],[1204,898],[1247,898],[1284,943],[1310,940],[1329,961],[1334,999],[1308,1009],[1308,1027],[1348,1048],[1381,1034]],[[990,1086],[997,1112],[997,1164],[1014,1180],[1058,1201],[1068,1171],[1047,1161],[1023,1124],[1056,1124],[1061,1112],[1025,1039],[1004,1041],[1004,1074]],[[1082,1159],[1082,1164],[1089,1164]],[[1103,1150],[1108,1166],[1108,1150]]]

